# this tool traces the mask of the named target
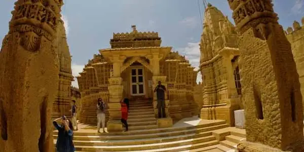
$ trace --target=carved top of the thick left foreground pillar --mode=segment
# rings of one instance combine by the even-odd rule
[[[56,27],[60,19],[62,0],[19,0],[10,22],[9,34],[3,41],[8,43],[11,33],[20,33],[20,45],[31,52],[44,47],[45,43],[54,40]]]

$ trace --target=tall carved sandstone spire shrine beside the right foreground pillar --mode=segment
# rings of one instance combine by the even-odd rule
[[[232,59],[239,55],[237,33],[227,17],[211,4],[205,10],[200,51],[203,85],[198,87],[203,90],[195,98],[201,103],[200,117],[226,120],[234,126],[234,110],[240,107],[232,65]]]

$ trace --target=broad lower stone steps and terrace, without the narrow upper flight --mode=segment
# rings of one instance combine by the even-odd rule
[[[56,142],[56,131],[53,136]],[[79,124],[73,140],[77,151],[216,152],[234,151],[244,137],[245,130],[229,127],[225,121],[193,117],[182,119],[169,128],[147,125],[129,132],[97,133],[97,126]]]

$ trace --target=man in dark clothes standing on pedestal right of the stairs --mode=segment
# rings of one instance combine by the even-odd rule
[[[166,118],[165,91],[166,91],[166,87],[162,85],[161,81],[159,81],[158,86],[156,86],[156,88],[154,89],[154,92],[156,92],[157,94],[157,107],[158,107],[159,118]]]

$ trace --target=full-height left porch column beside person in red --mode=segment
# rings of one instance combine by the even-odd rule
[[[113,59],[113,77],[109,78],[109,103],[108,112],[109,120],[107,122],[107,130],[109,132],[122,131],[121,123],[121,105],[120,101],[123,98],[123,85],[121,74],[122,62],[119,56],[114,56]]]

